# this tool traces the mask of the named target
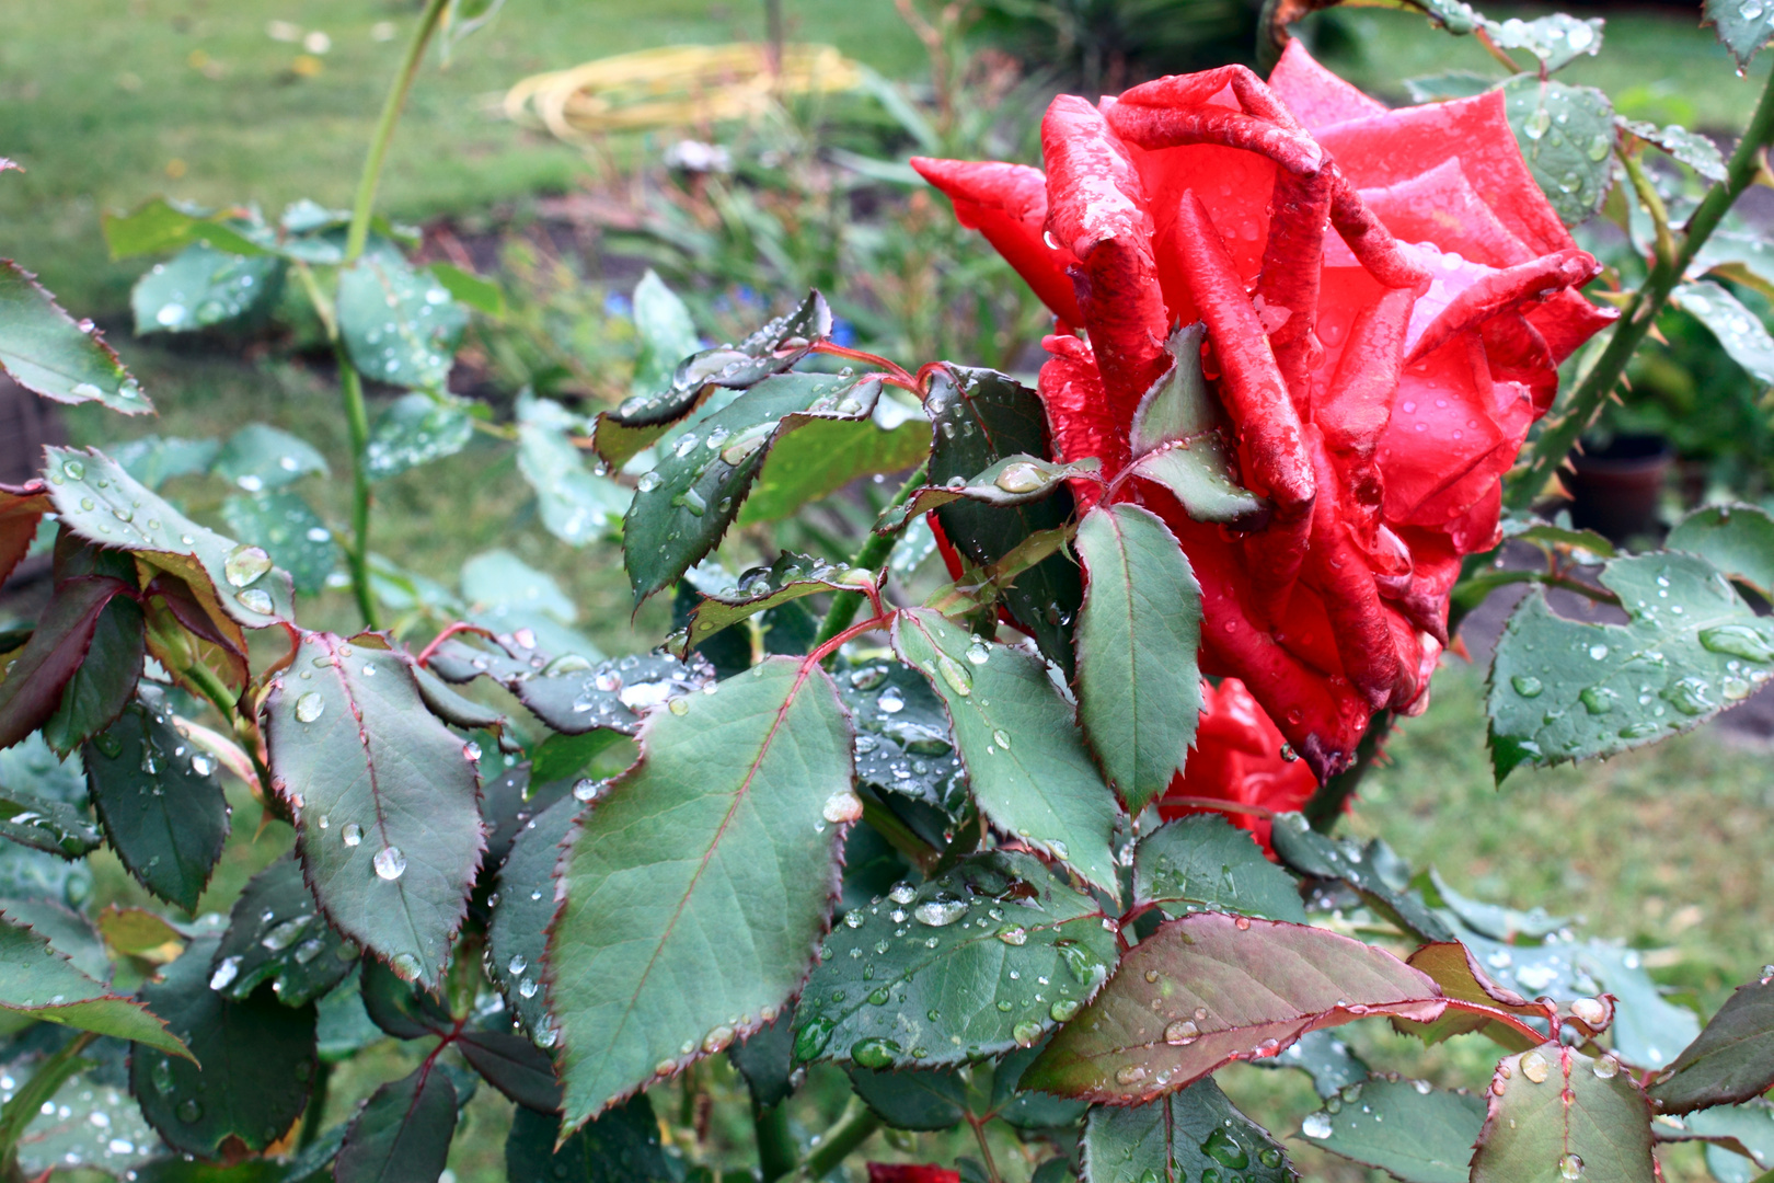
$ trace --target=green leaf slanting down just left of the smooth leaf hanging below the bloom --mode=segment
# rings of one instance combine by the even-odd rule
[[[942,697],[979,812],[1119,899],[1109,850],[1119,809],[1041,662],[930,608],[899,612],[892,639]]]

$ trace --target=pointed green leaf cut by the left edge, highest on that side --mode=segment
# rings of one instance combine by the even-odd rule
[[[154,410],[92,321],[76,325],[11,259],[0,261],[0,371],[57,403],[96,401],[124,415]]]

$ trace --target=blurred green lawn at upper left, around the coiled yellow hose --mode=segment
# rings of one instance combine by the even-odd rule
[[[836,43],[889,74],[922,50],[891,4],[784,0],[789,35]],[[321,30],[332,50],[298,78],[282,20]],[[349,206],[371,126],[415,5],[392,0],[66,0],[20,4],[0,37],[0,255],[39,271],[83,312],[126,307],[140,262],[112,264],[99,213],[156,193],[208,206],[298,197]],[[371,28],[394,21],[394,41]],[[585,156],[520,131],[490,110],[520,78],[660,44],[763,37],[756,0],[514,0],[431,64],[383,177],[383,209],[406,218],[481,211],[561,192]],[[199,57],[200,55],[200,57]],[[216,76],[204,73],[208,67]],[[177,174],[177,176],[174,176]]]

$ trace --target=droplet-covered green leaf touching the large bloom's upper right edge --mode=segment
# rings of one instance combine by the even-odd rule
[[[1593,87],[1515,74],[1503,83],[1504,112],[1527,168],[1565,225],[1577,225],[1607,197],[1614,108]]]

